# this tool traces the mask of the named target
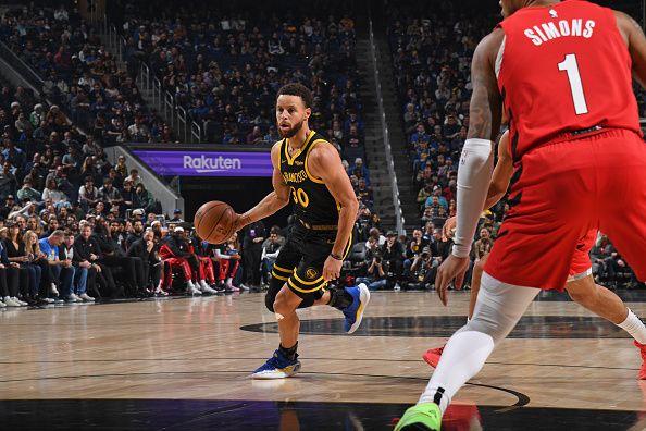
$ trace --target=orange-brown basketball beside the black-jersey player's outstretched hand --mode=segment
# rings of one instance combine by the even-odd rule
[[[236,212],[226,202],[211,200],[202,205],[195,214],[197,234],[211,244],[222,244],[235,232]]]

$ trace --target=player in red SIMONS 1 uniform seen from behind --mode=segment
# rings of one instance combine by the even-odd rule
[[[505,21],[476,48],[470,127],[458,172],[451,256],[435,286],[460,286],[492,177],[502,108],[514,162],[512,209],[482,278],[473,319],[448,341],[431,382],[396,430],[438,430],[541,288],[562,288],[580,238],[605,232],[646,279],[646,145],[631,72],[646,84],[646,38],[628,15],[583,0],[500,0]],[[619,210],[618,210],[619,209]],[[646,331],[629,313],[637,343]],[[622,327],[622,328],[624,328]]]

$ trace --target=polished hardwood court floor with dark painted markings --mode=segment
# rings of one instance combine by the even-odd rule
[[[351,336],[337,310],[299,311],[301,372],[252,381],[278,344],[263,297],[3,310],[0,429],[392,429],[431,374],[421,355],[462,325],[468,301],[373,293]],[[558,299],[531,306],[444,429],[646,429],[632,341]],[[646,316],[646,293],[631,300]]]

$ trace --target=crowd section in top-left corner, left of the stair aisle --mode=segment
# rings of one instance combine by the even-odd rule
[[[0,21],[0,39],[44,81],[39,90],[50,107],[41,103],[40,109],[45,114],[55,109],[60,126],[65,125],[63,110],[100,145],[177,140],[144,103],[134,75],[119,69],[76,9],[30,3],[10,10]],[[32,128],[39,125],[33,123]]]

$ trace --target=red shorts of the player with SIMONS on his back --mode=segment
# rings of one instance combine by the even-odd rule
[[[646,144],[607,130],[524,155],[485,272],[509,284],[562,290],[577,245],[608,235],[646,280]],[[579,258],[576,258],[579,259]]]

